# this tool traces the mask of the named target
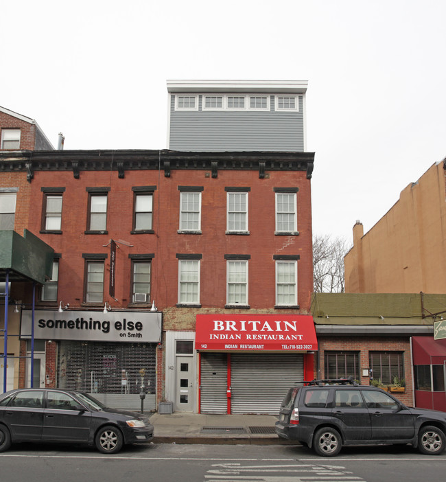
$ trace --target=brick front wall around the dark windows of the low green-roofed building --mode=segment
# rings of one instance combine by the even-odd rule
[[[320,374],[316,378],[325,378],[324,352],[360,352],[360,382],[361,385],[370,385],[370,379],[362,376],[362,369],[369,368],[368,352],[403,352],[404,379],[406,391],[404,393],[392,393],[401,402],[412,406],[414,404],[412,391],[412,355],[410,353],[409,338],[359,338],[359,337],[320,337],[318,338],[318,367]]]

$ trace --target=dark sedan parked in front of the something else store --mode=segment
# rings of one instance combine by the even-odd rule
[[[114,454],[153,437],[148,417],[109,409],[91,395],[62,389],[18,389],[0,395],[0,452],[15,442],[95,445]]]

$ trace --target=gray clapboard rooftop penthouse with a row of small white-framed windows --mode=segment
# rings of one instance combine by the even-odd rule
[[[307,84],[306,80],[167,80],[167,146],[304,152]]]

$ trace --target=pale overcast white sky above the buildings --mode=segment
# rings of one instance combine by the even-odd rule
[[[65,149],[167,148],[166,80],[307,80],[314,234],[352,242],[446,157],[444,0],[15,0],[0,106]]]

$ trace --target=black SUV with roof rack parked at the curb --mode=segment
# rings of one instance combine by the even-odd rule
[[[352,380],[313,380],[288,390],[276,433],[333,457],[344,445],[411,444],[439,455],[446,446],[446,413],[414,409],[382,389]]]

